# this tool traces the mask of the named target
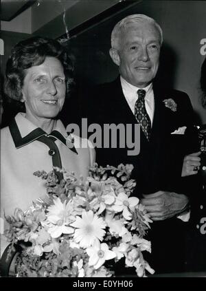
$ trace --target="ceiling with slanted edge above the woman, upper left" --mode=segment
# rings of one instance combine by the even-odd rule
[[[1,0],[1,32],[77,35],[141,0]]]

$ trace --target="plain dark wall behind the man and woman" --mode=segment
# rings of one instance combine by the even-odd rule
[[[117,76],[118,68],[108,54],[111,31],[117,21],[129,14],[147,14],[156,19],[163,29],[160,82],[185,91],[190,96],[197,117],[205,123],[206,109],[201,107],[199,100],[199,78],[205,58],[200,52],[200,42],[206,39],[206,1],[130,2],[133,6],[107,17],[69,40],[69,49],[76,59],[77,85],[86,87],[104,83]],[[5,43],[5,55],[1,56],[3,74],[12,46],[29,36],[32,35],[1,32]]]

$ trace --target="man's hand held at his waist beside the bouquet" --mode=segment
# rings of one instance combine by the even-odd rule
[[[182,213],[189,202],[186,195],[165,191],[143,195],[143,197],[141,204],[144,204],[147,213],[154,221],[164,220]]]

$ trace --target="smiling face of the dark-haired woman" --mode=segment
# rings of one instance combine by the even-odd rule
[[[44,63],[25,69],[23,99],[27,118],[55,118],[65,102],[65,74],[57,58],[47,56]]]

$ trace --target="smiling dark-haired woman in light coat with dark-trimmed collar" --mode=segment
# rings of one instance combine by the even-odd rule
[[[88,140],[69,135],[57,118],[69,91],[72,69],[67,52],[52,39],[34,37],[12,50],[5,94],[24,103],[25,113],[20,112],[1,129],[1,221],[15,208],[25,211],[33,200],[46,195],[44,182],[33,175],[35,171],[49,172],[58,166],[77,177],[88,175],[95,160],[93,147]],[[62,179],[62,173],[56,175]],[[7,245],[1,235],[1,254]],[[1,268],[3,265],[1,259]]]

